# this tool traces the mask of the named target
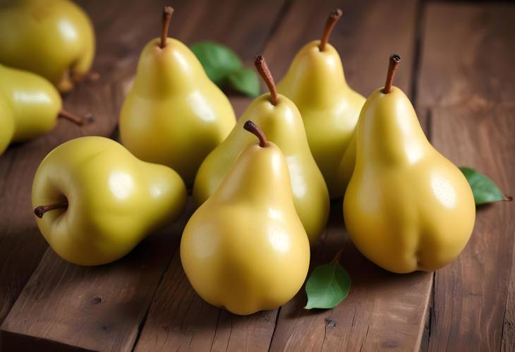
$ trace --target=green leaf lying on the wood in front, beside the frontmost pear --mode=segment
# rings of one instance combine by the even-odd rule
[[[304,309],[334,308],[344,301],[350,288],[351,277],[338,263],[332,262],[315,267],[305,284],[308,303]]]

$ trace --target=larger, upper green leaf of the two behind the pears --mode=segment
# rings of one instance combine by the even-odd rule
[[[222,44],[198,42],[191,46],[191,51],[216,85],[222,85],[229,73],[238,71],[243,66],[238,55]]]

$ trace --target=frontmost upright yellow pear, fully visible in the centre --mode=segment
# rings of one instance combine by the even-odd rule
[[[310,261],[286,159],[254,123],[243,127],[259,144],[241,152],[181,238],[181,262],[193,289],[238,315],[288,302],[301,289]]]

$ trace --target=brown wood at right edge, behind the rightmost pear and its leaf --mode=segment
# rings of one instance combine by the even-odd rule
[[[515,6],[429,4],[418,102],[435,147],[515,193]],[[444,54],[443,54],[444,53]],[[515,208],[480,207],[460,257],[435,272],[429,351],[513,351]]]

